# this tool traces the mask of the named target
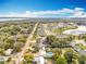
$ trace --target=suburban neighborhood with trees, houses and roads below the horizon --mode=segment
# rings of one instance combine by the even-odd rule
[[[1,23],[1,64],[86,63],[85,25],[39,21]]]

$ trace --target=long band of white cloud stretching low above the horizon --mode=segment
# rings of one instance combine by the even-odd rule
[[[75,9],[61,9],[57,11],[26,11],[25,13],[10,12],[8,14],[1,14],[0,17],[86,17],[86,12],[83,8]]]

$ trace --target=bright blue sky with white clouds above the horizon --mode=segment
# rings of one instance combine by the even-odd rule
[[[86,17],[86,0],[0,0],[0,17]]]

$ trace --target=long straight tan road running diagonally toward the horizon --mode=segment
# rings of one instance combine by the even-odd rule
[[[36,31],[37,26],[38,26],[38,23],[35,25],[33,31],[30,33],[30,35],[26,39],[26,43],[25,43],[24,48],[22,49],[22,52],[19,54],[19,56],[17,56],[17,59],[15,61],[15,64],[20,64],[21,59],[22,59],[22,56],[24,55],[24,53],[26,51],[26,48],[28,47],[29,42],[32,41],[32,38],[33,38],[33,36],[34,36],[35,31]]]

